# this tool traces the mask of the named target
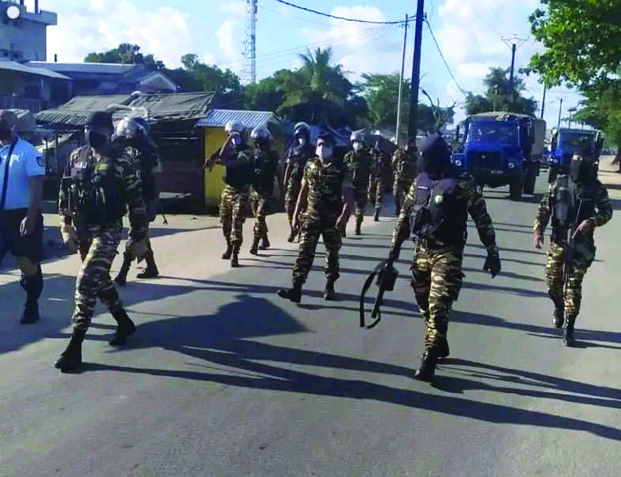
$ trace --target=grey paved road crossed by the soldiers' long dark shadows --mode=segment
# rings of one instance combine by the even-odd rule
[[[621,181],[603,176],[619,209]],[[52,368],[69,333],[75,258],[46,266],[46,316],[31,328],[15,324],[16,276],[2,277],[0,475],[619,475],[621,221],[598,231],[582,346],[566,349],[550,326],[544,256],[530,247],[535,199],[486,196],[504,273],[492,281],[480,270],[471,229],[452,355],[433,386],[412,379],[423,323],[409,250],[384,321],[357,327],[357,295],[387,253],[392,219],[346,240],[341,298],[329,306],[320,272],[301,306],[275,295],[294,256],[282,239],[231,272],[204,258],[219,242],[201,245],[200,234],[217,230],[158,238],[176,257],[168,278],[123,291],[138,334],[110,349],[112,321],[98,316],[80,375]]]

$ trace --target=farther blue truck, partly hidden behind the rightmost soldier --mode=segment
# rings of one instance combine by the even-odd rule
[[[555,129],[550,141],[549,182],[554,182],[560,171],[567,171],[571,158],[580,153],[585,145],[589,145],[595,158],[599,161],[604,138],[596,129]]]

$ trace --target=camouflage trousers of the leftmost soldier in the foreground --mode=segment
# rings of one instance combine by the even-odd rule
[[[110,267],[120,243],[120,228],[104,229],[93,237],[80,238],[82,267],[75,287],[75,329],[88,329],[97,298],[111,312],[122,308],[121,299],[110,278]]]

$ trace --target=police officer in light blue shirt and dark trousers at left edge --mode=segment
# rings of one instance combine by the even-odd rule
[[[39,320],[43,291],[43,181],[45,165],[35,147],[16,132],[17,115],[0,110],[0,262],[11,252],[26,291],[20,323]]]

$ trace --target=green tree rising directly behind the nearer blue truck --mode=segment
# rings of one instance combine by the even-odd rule
[[[466,96],[466,113],[477,114],[489,111],[506,111],[519,114],[535,114],[537,101],[526,98],[524,80],[517,75],[513,79],[513,87],[508,77],[509,70],[504,68],[491,68],[489,74],[483,80],[487,87],[485,94]]]

